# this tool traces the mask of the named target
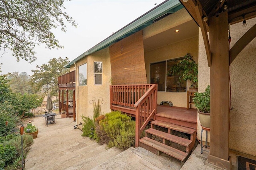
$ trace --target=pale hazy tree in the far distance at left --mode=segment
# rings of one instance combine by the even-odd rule
[[[8,74],[8,80],[10,80],[10,88],[14,93],[21,93],[21,94],[30,94],[31,93],[31,86],[30,76],[26,72],[12,72]]]

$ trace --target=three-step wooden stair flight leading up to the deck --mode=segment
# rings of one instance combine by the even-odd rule
[[[185,123],[185,125],[187,124]],[[156,130],[157,126],[167,128],[168,133]],[[173,131],[179,131],[179,132],[190,135],[190,140],[172,135],[171,133]],[[163,143],[160,143],[152,139],[152,135],[162,138]],[[168,154],[178,160],[181,160],[182,164],[184,164],[184,162],[187,160],[188,156],[192,152],[195,141],[196,141],[196,129],[192,129],[190,127],[184,127],[182,125],[172,124],[164,121],[155,120],[151,122],[151,128],[145,131],[145,137],[139,140],[139,146],[157,155],[160,155],[161,153]],[[185,146],[186,152],[170,147],[169,146],[170,142],[174,142],[179,145]]]

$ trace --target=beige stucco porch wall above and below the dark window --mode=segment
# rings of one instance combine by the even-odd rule
[[[147,82],[150,83],[150,63],[176,59],[185,56],[186,53],[190,53],[194,61],[198,62],[198,37],[145,52],[146,74],[148,75]],[[158,92],[157,97],[158,104],[160,104],[162,100],[167,100],[171,101],[174,106],[187,107],[186,92]]]

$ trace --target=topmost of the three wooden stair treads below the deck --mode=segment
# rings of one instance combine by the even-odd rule
[[[188,127],[183,127],[183,126],[180,126],[180,125],[175,125],[175,124],[172,124],[172,123],[166,123],[166,122],[158,121],[158,120],[152,121],[151,125],[157,125],[157,126],[165,127],[167,129],[172,129],[174,131],[179,131],[179,132],[187,133],[187,134],[190,134],[190,135],[192,135],[196,132],[196,129],[191,129],[191,128],[188,128]]]

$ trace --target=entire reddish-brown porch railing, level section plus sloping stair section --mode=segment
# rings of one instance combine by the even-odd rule
[[[148,122],[156,118],[157,84],[110,86],[110,109],[113,105],[135,109],[135,146],[138,147],[140,134]]]

